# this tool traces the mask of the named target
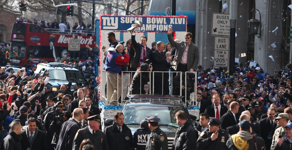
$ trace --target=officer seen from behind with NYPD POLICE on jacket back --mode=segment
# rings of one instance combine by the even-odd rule
[[[146,119],[140,122],[140,129],[134,133],[134,147],[136,150],[144,150],[146,148],[146,143],[150,137],[150,129],[148,126],[148,121]]]

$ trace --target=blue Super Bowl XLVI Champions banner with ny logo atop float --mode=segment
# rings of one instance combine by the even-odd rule
[[[141,21],[143,26],[137,31],[167,32],[172,27],[173,31],[186,31],[187,16],[101,16],[101,30],[126,31]]]

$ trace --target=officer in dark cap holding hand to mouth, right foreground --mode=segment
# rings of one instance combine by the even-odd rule
[[[210,117],[209,128],[201,132],[198,138],[198,149],[201,150],[227,150],[226,142],[228,140],[227,131],[220,129],[220,120]]]

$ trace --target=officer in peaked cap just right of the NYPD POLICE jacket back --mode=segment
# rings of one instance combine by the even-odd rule
[[[146,150],[167,150],[166,134],[158,127],[160,118],[150,115],[147,117],[148,126],[152,131],[146,144]]]

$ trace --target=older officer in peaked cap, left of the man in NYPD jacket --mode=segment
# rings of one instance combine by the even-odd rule
[[[108,150],[107,138],[105,134],[99,130],[100,115],[93,115],[87,118],[88,126],[79,129],[73,140],[73,150],[79,150],[83,139],[90,139],[95,149]]]

